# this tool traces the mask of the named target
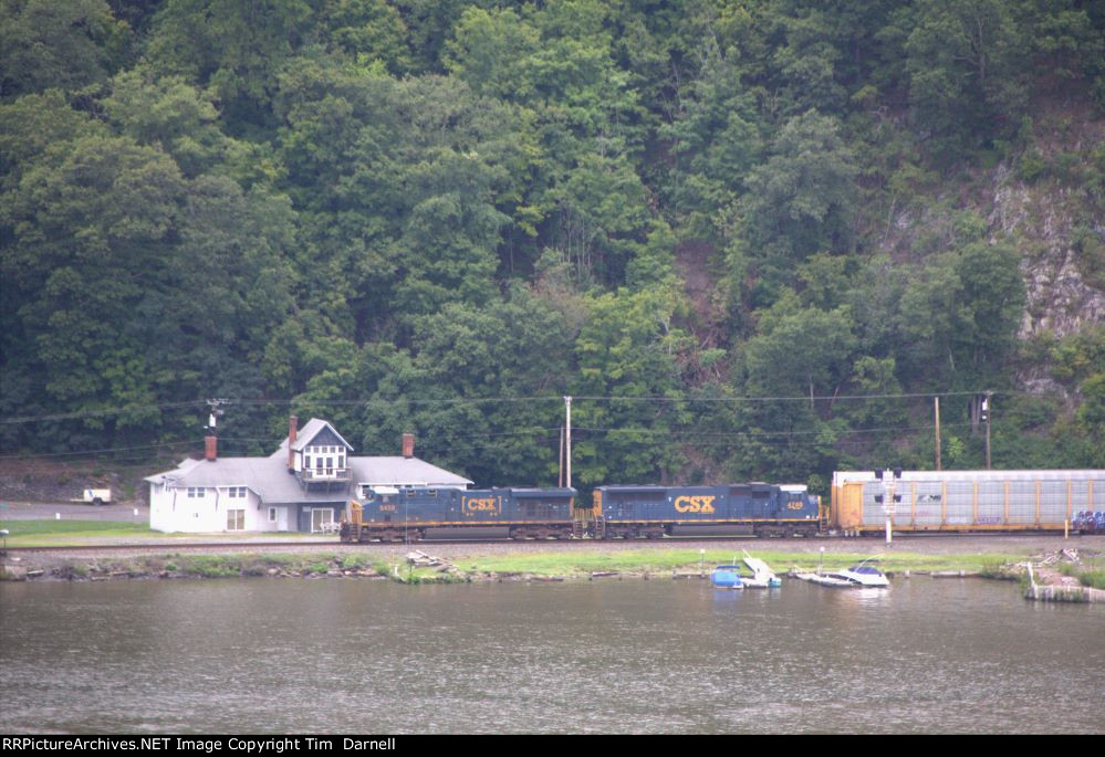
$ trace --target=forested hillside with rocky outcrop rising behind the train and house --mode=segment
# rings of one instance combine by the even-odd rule
[[[1105,466],[1103,106],[1092,0],[0,0],[3,454]]]

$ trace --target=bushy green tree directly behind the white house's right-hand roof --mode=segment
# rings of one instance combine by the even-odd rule
[[[417,317],[413,354],[375,350],[364,445],[388,450],[413,431],[421,456],[479,485],[555,483],[570,339],[559,313],[521,286],[486,307]]]

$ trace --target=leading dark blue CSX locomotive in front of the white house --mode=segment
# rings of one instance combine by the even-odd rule
[[[570,538],[574,488],[378,487],[350,502],[343,542]]]

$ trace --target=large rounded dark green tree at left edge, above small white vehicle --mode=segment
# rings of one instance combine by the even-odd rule
[[[157,368],[119,326],[142,296],[143,273],[164,264],[158,253],[167,251],[183,189],[165,155],[86,136],[52,146],[4,196],[3,277],[14,290],[11,327],[22,345],[9,367],[39,385],[40,407],[152,403],[148,377]]]

